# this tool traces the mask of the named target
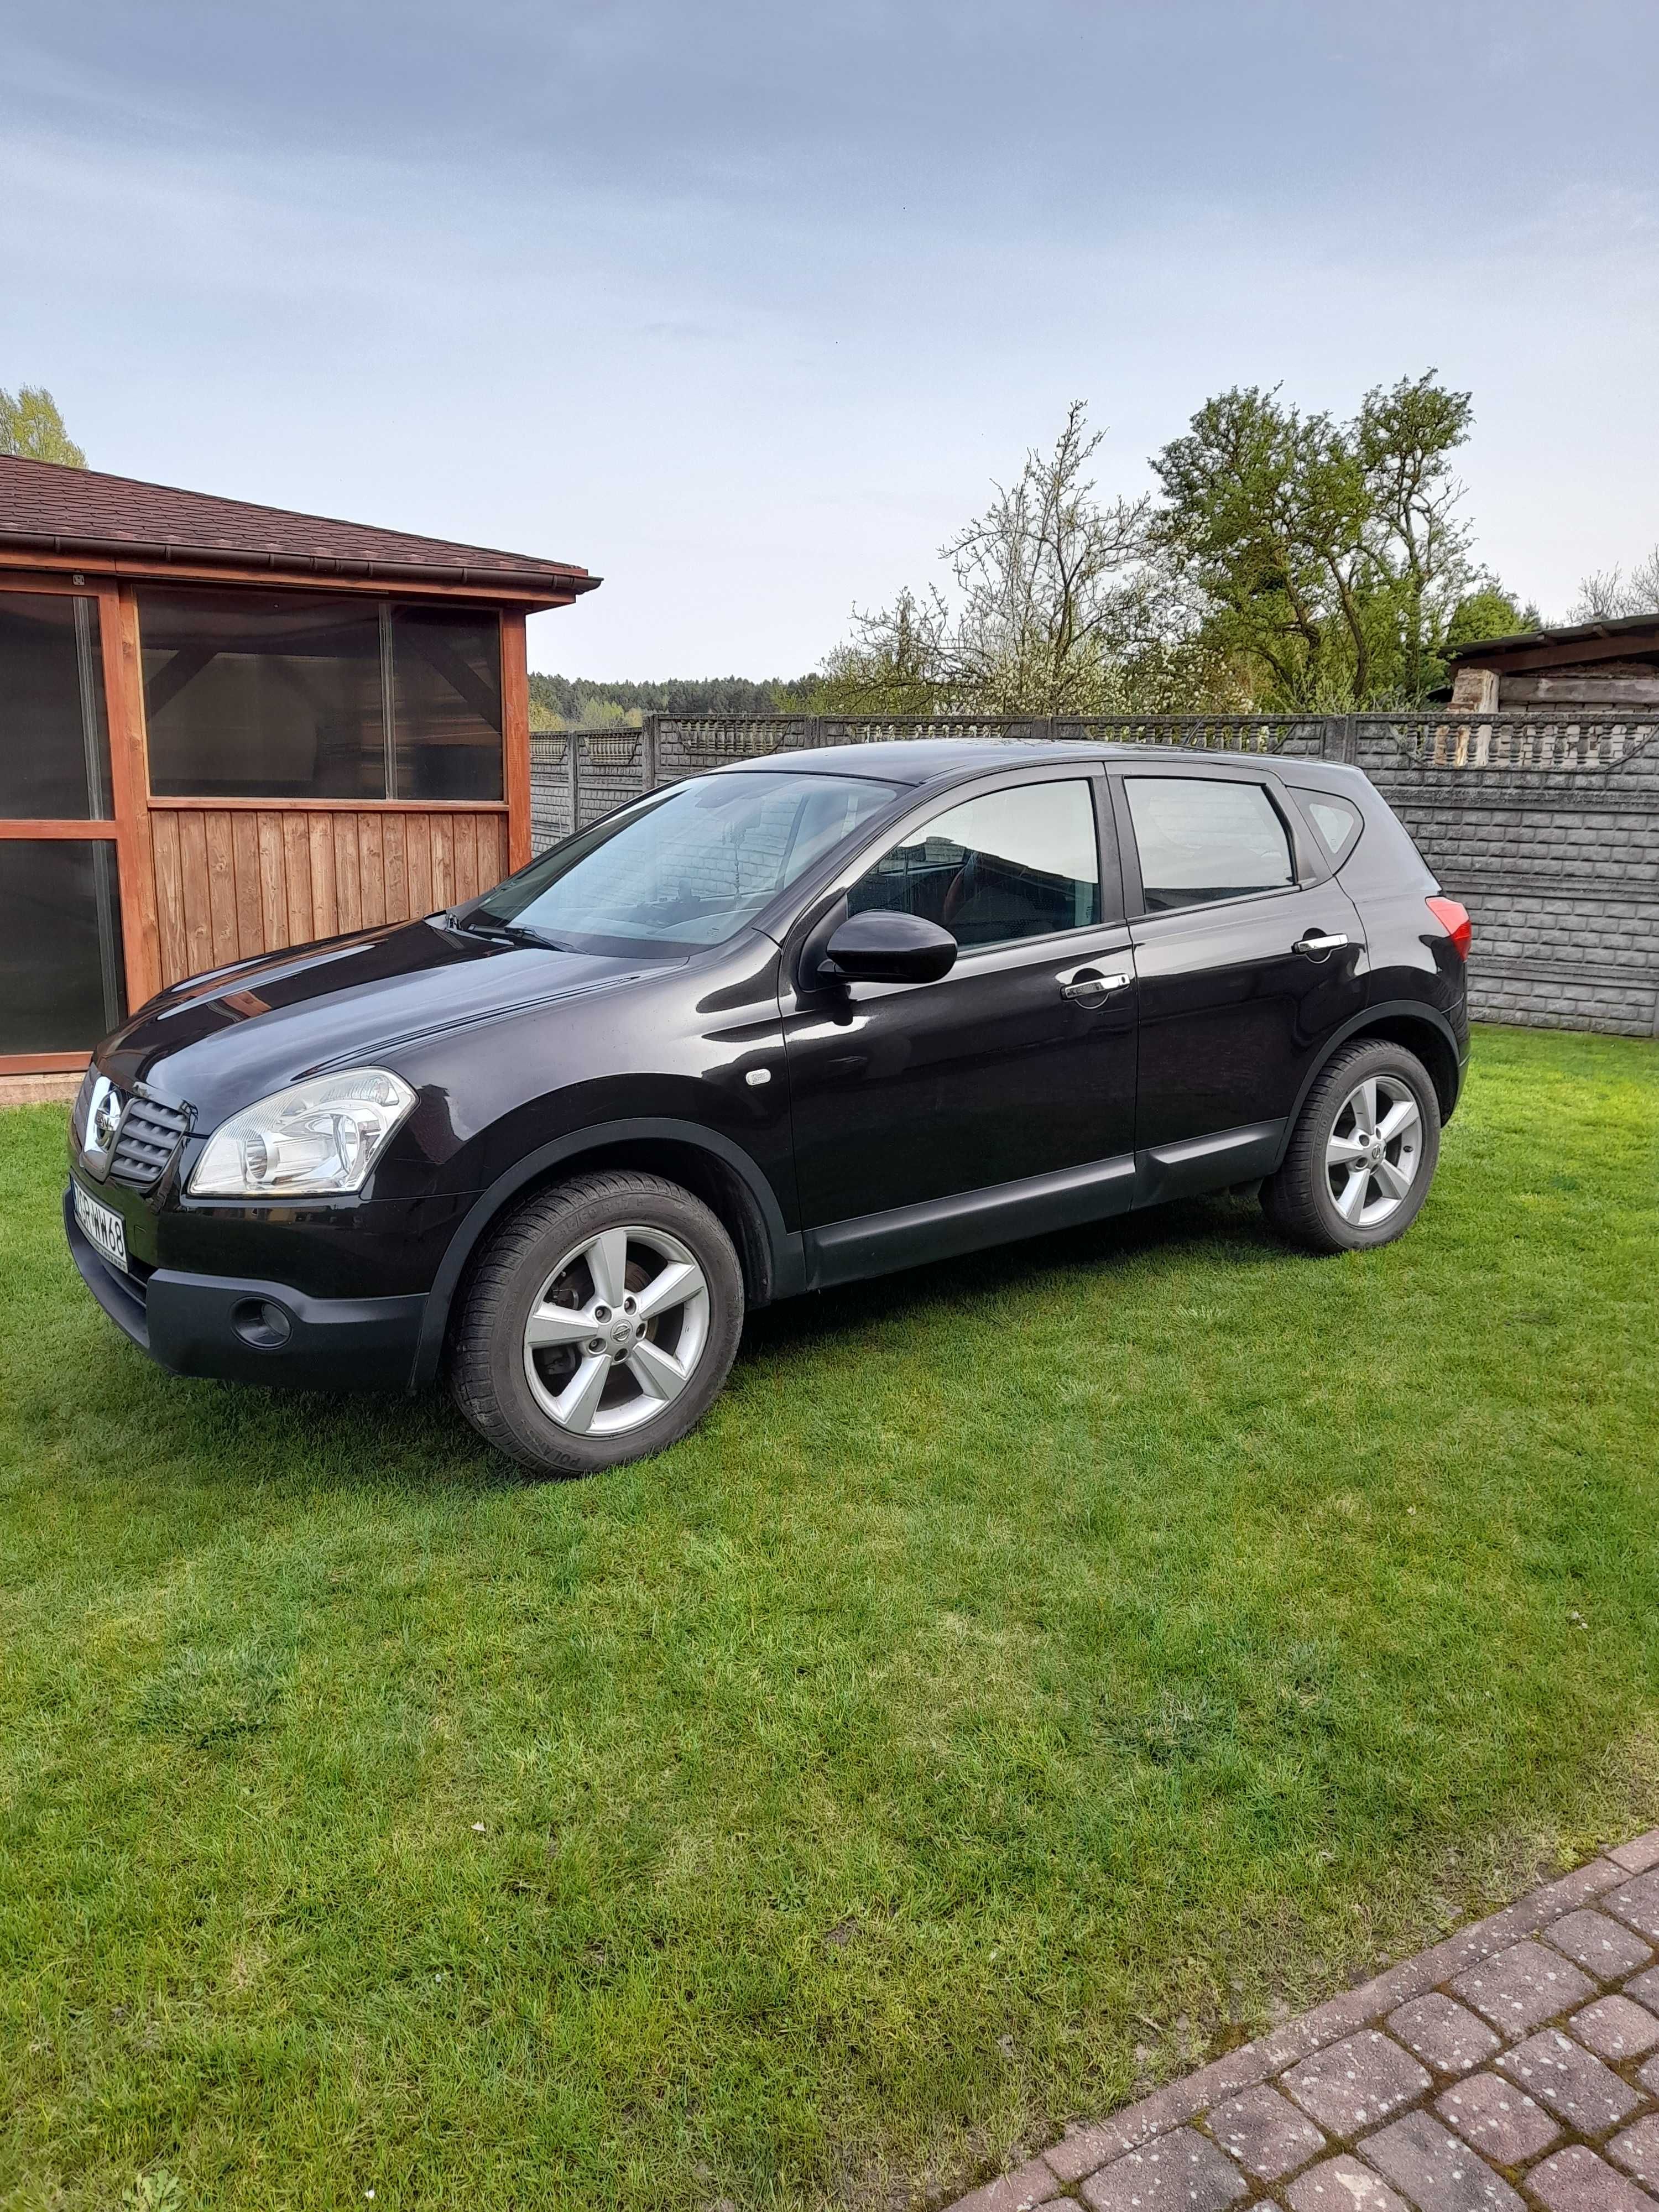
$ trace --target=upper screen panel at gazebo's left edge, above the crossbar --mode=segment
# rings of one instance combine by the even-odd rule
[[[111,818],[97,599],[0,591],[0,814]]]

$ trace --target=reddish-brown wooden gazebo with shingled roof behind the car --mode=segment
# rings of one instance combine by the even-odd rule
[[[529,860],[524,617],[597,582],[0,456],[0,1095]]]

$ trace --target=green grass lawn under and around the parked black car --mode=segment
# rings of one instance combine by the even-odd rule
[[[1659,1818],[1659,1046],[1484,1031],[1385,1252],[1214,1201],[805,1298],[542,1486],[148,1367],[62,1128],[0,2205],[907,2203]]]

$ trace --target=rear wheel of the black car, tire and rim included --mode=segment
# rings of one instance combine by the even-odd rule
[[[1290,1150],[1261,1186],[1261,1210],[1307,1252],[1369,1252],[1418,1219],[1438,1159],[1440,1102],[1429,1071],[1402,1044],[1360,1037],[1332,1055],[1307,1093]]]

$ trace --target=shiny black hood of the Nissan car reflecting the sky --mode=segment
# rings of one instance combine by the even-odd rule
[[[684,960],[502,945],[442,922],[398,922],[241,960],[175,984],[97,1051],[122,1088],[197,1108],[197,1126],[325,1066],[396,1066],[422,1037],[562,998],[615,991]]]

